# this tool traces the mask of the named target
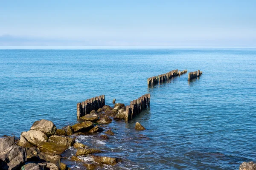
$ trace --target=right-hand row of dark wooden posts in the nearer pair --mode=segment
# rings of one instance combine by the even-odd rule
[[[138,99],[131,101],[130,105],[126,106],[125,122],[133,119],[135,115],[139,114],[150,105],[150,94],[145,94]]]

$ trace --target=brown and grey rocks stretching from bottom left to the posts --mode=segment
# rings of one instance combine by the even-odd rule
[[[90,156],[91,159],[90,163],[83,164],[89,170],[104,165],[122,164],[121,158],[95,155],[104,151],[75,142],[77,136],[96,134],[102,139],[108,139],[108,136],[115,135],[111,129],[105,130],[104,135],[101,134],[104,131],[101,126],[111,123],[112,119],[115,121],[125,119],[124,104],[116,103],[114,108],[105,105],[81,117],[79,119],[81,122],[72,126],[67,125],[62,129],[57,129],[49,120],[35,121],[30,130],[20,134],[20,138],[15,136],[0,138],[0,169],[70,170],[61,159],[83,162],[81,158],[85,156]],[[145,130],[138,122],[135,129]],[[76,149],[76,156],[63,158],[61,154],[70,147]]]

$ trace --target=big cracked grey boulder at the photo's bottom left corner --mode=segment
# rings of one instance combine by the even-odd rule
[[[20,170],[26,160],[26,150],[24,147],[15,145],[14,136],[0,138],[1,170]]]

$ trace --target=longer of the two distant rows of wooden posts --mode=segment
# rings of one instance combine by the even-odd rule
[[[186,72],[187,72],[187,70],[183,70],[183,71],[179,70],[178,71],[178,69],[176,69],[176,70],[172,70],[166,74],[161,74],[158,76],[150,77],[150,78],[148,78],[148,86],[154,86],[154,85],[170,82],[170,80],[173,77],[180,76],[182,74],[185,74]]]

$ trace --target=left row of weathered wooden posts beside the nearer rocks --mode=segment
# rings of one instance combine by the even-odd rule
[[[99,108],[102,108],[105,105],[105,95],[96,96],[90,99],[85,100],[84,102],[77,103],[76,106],[76,115],[77,119],[80,117],[89,114],[92,110],[97,111]]]

